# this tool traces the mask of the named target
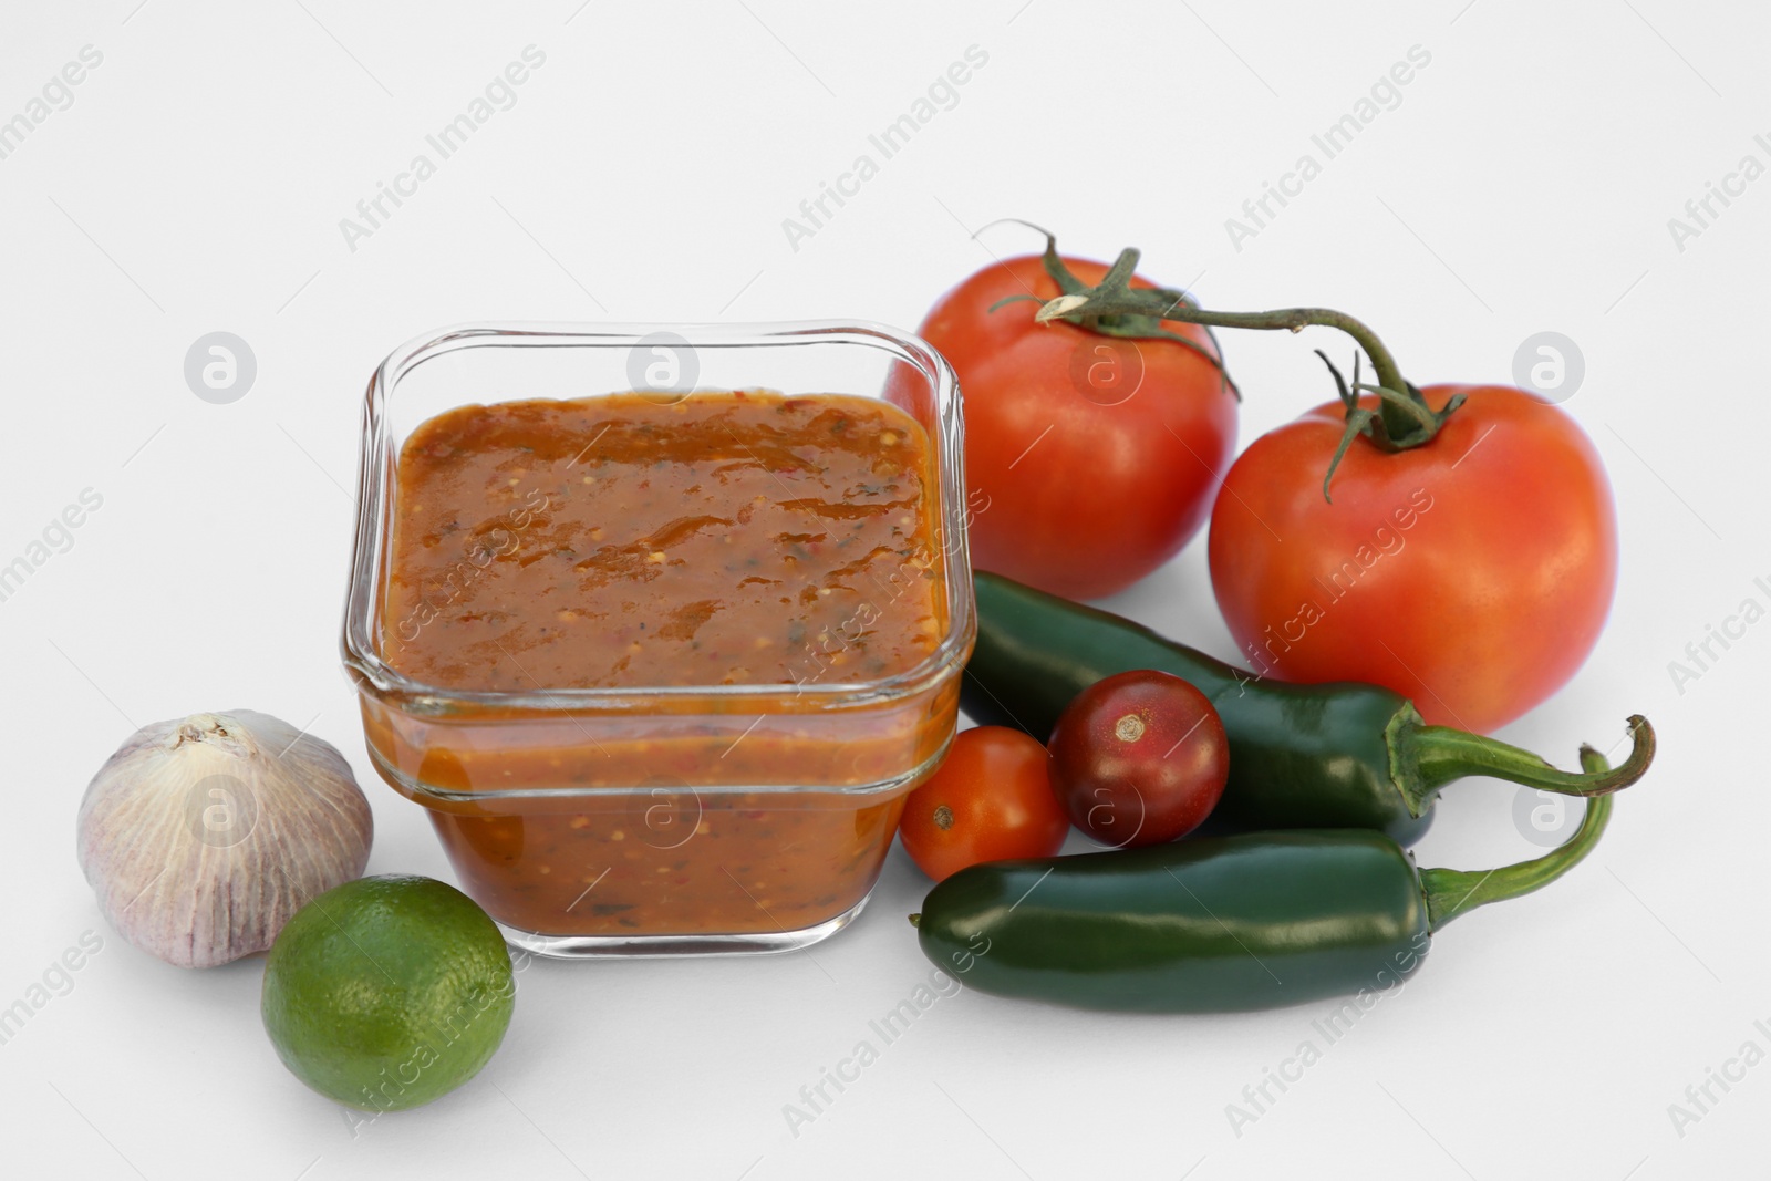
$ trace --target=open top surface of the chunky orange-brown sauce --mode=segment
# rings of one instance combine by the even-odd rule
[[[400,453],[390,662],[515,692],[907,671],[944,623],[926,471],[923,428],[871,398],[460,407]],[[880,607],[907,567],[923,588]]]

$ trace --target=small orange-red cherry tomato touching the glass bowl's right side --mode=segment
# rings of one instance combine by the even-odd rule
[[[1048,761],[1040,740],[1018,729],[960,731],[933,777],[903,804],[903,852],[937,882],[983,861],[1050,857],[1070,818],[1052,795]]]

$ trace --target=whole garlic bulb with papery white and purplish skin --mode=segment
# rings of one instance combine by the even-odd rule
[[[264,951],[363,875],[374,820],[338,749],[269,714],[143,726],[80,804],[80,868],[126,940],[186,969]]]

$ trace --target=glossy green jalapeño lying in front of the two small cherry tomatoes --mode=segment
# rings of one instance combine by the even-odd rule
[[[1590,770],[1605,760],[1582,751]],[[962,869],[910,915],[933,963],[979,992],[1084,1009],[1233,1013],[1381,993],[1475,907],[1574,868],[1612,797],[1537,861],[1415,869],[1369,829],[1249,832]]]

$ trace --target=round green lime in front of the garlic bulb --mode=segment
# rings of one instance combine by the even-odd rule
[[[383,875],[296,912],[264,965],[264,1030],[296,1078],[367,1112],[473,1078],[510,1025],[505,940],[471,898]]]

